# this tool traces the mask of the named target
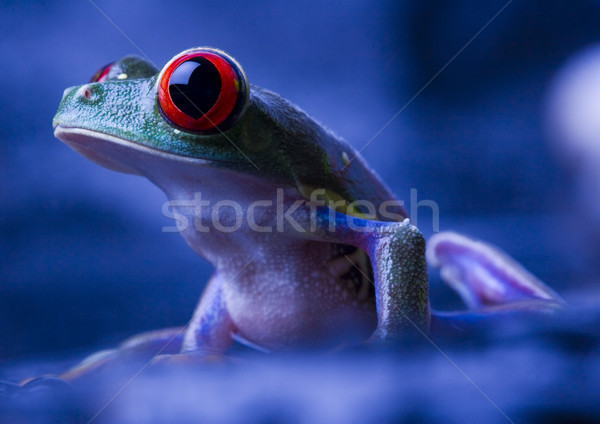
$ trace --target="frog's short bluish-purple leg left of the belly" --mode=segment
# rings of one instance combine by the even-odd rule
[[[227,311],[223,280],[215,274],[186,329],[181,353],[223,353],[233,343],[233,332],[235,326]]]

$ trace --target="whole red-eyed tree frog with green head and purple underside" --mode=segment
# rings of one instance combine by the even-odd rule
[[[454,232],[426,244],[359,152],[282,96],[251,85],[212,47],[162,69],[126,56],[67,88],[54,135],[118,172],[147,178],[187,244],[215,272],[187,325],[146,332],[62,376],[129,354],[224,355],[410,343],[448,320],[566,307],[500,249]],[[429,301],[428,265],[463,299]]]

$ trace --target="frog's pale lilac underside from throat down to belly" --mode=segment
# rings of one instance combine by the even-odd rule
[[[183,171],[186,166],[191,168]],[[332,275],[331,244],[308,240],[290,232],[289,226],[279,230],[279,202],[283,200],[282,210],[288,210],[302,199],[295,188],[202,164],[179,163],[172,177],[156,183],[169,199],[188,205],[173,208],[190,224],[181,235],[215,266],[216,280],[211,284],[223,290],[227,313],[243,338],[282,350],[360,341],[373,332],[377,324],[373,299],[365,299],[364,291],[359,295],[339,275]],[[221,224],[237,222],[236,231],[216,229],[210,207],[189,207],[199,193],[211,205],[223,199],[240,205],[243,219],[231,207],[218,214]],[[249,220],[250,205],[257,200],[269,206],[255,208]],[[251,222],[270,231],[256,231]],[[200,227],[206,230],[199,231]]]

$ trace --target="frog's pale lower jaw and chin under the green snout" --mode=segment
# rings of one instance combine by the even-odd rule
[[[167,163],[185,162],[190,165],[212,163],[210,160],[168,153],[121,137],[84,128],[57,125],[54,128],[54,136],[92,162],[126,174],[146,175],[140,164],[148,162],[150,158]]]

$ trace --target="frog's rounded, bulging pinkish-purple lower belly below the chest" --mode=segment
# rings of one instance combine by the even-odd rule
[[[331,275],[329,249],[316,242],[287,245],[223,281],[239,334],[274,350],[366,339],[377,323],[374,305]]]

